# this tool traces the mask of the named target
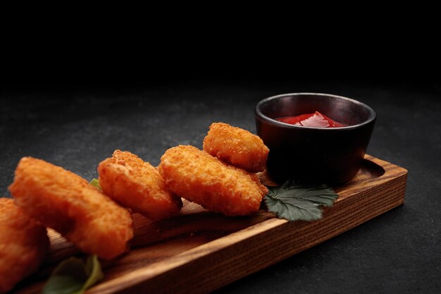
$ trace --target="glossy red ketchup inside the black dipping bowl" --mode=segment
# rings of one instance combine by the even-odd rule
[[[300,116],[282,116],[275,118],[275,120],[281,121],[282,123],[290,123],[290,125],[302,125],[304,127],[314,128],[339,128],[347,126],[344,123],[339,123],[332,118],[328,118],[328,116],[318,111],[313,114],[302,114]]]

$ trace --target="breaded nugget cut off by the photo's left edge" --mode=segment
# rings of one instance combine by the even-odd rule
[[[10,198],[0,198],[0,293],[37,271],[49,250],[46,228]]]

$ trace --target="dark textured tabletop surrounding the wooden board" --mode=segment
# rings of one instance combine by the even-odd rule
[[[114,149],[159,164],[169,147],[201,148],[211,122],[255,132],[254,105],[286,92],[325,92],[377,111],[368,154],[408,169],[405,204],[216,293],[439,293],[441,84],[174,80],[148,85],[1,88],[0,196],[21,157],[97,176]]]

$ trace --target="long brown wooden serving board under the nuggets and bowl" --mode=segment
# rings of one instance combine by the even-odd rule
[[[261,175],[263,182],[267,181]],[[320,221],[286,221],[263,209],[254,216],[228,217],[184,202],[180,216],[151,222],[134,214],[132,250],[101,262],[105,278],[87,290],[104,293],[209,293],[404,203],[407,171],[366,156]],[[15,293],[39,293],[52,269],[80,252],[49,230],[51,251],[44,267]]]

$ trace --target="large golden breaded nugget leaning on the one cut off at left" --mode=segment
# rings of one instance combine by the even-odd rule
[[[9,191],[27,214],[83,252],[112,259],[128,249],[133,237],[130,212],[75,173],[23,157]]]

